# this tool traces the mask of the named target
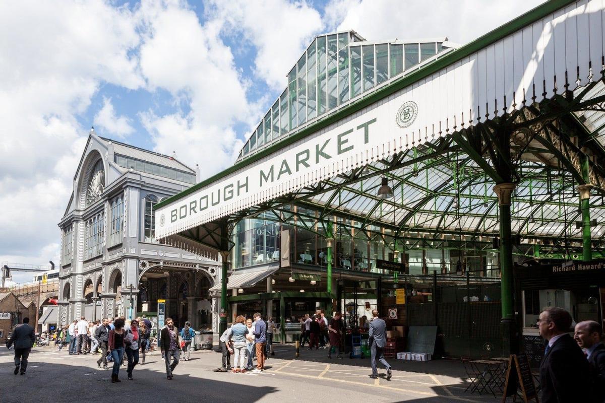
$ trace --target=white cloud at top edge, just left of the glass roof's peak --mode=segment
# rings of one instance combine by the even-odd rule
[[[215,9],[210,15],[224,21],[223,33],[240,33],[243,46],[254,46],[255,74],[276,90],[286,88],[286,75],[322,30],[319,12],[302,1],[238,0],[213,4]]]

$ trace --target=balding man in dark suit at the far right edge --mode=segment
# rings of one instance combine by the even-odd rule
[[[605,402],[605,345],[601,342],[602,337],[603,327],[594,320],[575,325],[574,339],[586,352],[596,402]]]

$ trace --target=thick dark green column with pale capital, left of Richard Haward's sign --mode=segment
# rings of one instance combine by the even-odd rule
[[[517,333],[514,311],[514,283],[512,277],[512,233],[511,233],[511,195],[514,183],[501,183],[494,186],[498,196],[500,211],[500,294],[502,300],[502,348],[503,353],[516,353]]]

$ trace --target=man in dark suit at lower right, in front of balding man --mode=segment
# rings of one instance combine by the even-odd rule
[[[569,312],[549,306],[540,312],[540,336],[548,340],[540,364],[542,403],[590,401],[589,364],[574,339],[567,334]]]

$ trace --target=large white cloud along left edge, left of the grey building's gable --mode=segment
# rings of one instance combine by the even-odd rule
[[[139,40],[132,13],[103,1],[0,2],[0,261],[57,262],[88,132],[77,116],[101,83],[144,85]]]

